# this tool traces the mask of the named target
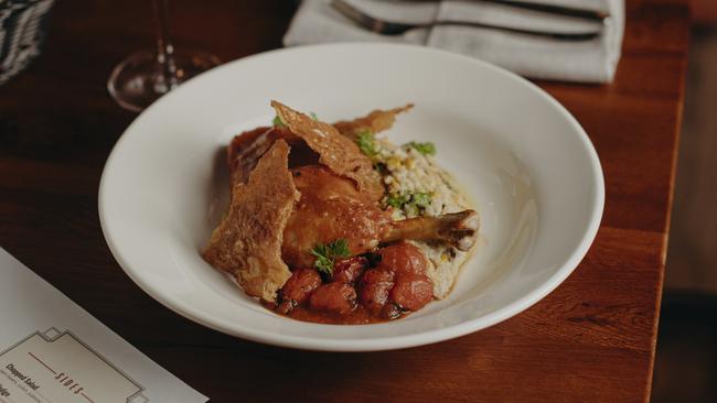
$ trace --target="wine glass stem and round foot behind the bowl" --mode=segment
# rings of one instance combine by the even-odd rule
[[[174,50],[169,39],[167,0],[152,0],[157,19],[157,51],[137,52],[118,64],[107,80],[120,107],[139,112],[180,84],[221,62],[197,51]]]

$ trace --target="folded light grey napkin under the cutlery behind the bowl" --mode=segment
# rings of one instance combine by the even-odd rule
[[[482,1],[410,2],[346,0],[373,17],[396,22],[469,20],[497,25],[582,32],[598,22],[529,11]],[[331,7],[331,0],[303,0],[289,31],[287,46],[327,42],[398,42],[422,44],[465,54],[505,67],[520,75],[566,81],[609,83],[620,59],[624,30],[623,0],[523,0],[589,10],[609,11],[603,34],[582,42],[556,41],[486,29],[439,25],[386,36],[368,32]]]

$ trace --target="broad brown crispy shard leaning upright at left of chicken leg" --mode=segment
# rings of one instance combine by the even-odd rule
[[[246,183],[232,189],[226,217],[202,253],[214,268],[231,273],[252,296],[267,302],[289,280],[281,260],[283,228],[299,199],[288,167],[289,145],[277,140],[261,156]]]

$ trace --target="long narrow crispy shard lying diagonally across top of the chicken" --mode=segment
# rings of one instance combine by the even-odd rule
[[[271,107],[293,134],[319,153],[319,163],[336,175],[354,181],[358,192],[364,193],[370,200],[378,202],[383,197],[385,189],[381,184],[381,175],[351,139],[341,135],[333,126],[315,121],[281,102],[271,101]]]

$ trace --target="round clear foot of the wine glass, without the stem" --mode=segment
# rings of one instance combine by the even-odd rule
[[[204,52],[175,51],[174,74],[168,80],[157,53],[137,52],[118,64],[107,81],[109,95],[120,107],[139,112],[188,79],[220,65],[220,59]]]

